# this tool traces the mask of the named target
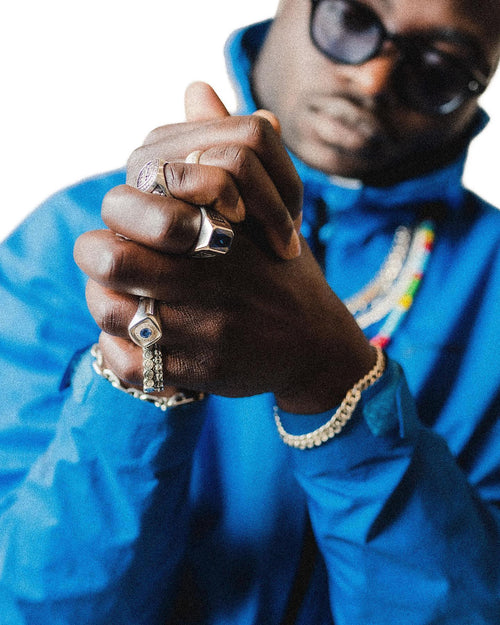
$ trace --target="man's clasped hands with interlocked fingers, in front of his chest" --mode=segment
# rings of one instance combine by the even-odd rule
[[[87,232],[75,245],[106,366],[138,385],[141,350],[127,328],[138,298],[152,297],[170,387],[228,397],[272,392],[284,410],[327,410],[374,354],[299,239],[302,184],[279,124],[266,111],[230,116],[204,83],[188,88],[186,119],[150,133],[129,159],[128,184],[103,201],[108,230]],[[185,163],[194,150],[199,162]],[[134,188],[155,157],[168,161],[169,197]],[[187,255],[198,205],[233,225],[226,256]]]

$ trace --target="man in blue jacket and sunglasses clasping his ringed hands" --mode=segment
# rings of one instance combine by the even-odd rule
[[[192,86],[128,186],[5,245],[6,622],[499,621],[500,218],[460,184],[499,33],[489,0],[283,0],[231,44],[248,115]],[[199,206],[227,254],[191,257]]]

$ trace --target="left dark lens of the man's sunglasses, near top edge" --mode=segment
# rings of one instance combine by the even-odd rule
[[[313,9],[311,36],[331,59],[355,65],[371,58],[383,38],[383,28],[368,7],[348,0],[319,0]]]

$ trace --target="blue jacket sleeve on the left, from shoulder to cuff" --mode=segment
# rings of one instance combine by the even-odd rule
[[[152,625],[184,548],[202,417],[93,371],[72,249],[100,223],[75,193],[102,195],[57,196],[0,248],[0,622]]]

